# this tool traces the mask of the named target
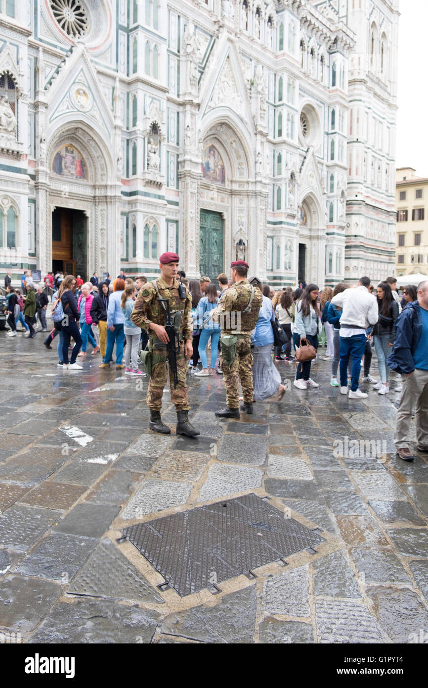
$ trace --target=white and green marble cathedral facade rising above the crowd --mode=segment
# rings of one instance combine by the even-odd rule
[[[394,273],[398,0],[0,0],[0,272]]]

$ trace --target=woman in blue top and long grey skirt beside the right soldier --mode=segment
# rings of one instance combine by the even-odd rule
[[[263,294],[262,283],[256,284]],[[285,387],[281,384],[281,375],[272,361],[273,330],[275,311],[269,297],[262,296],[262,305],[258,314],[256,327],[251,332],[251,354],[253,354],[254,400],[267,399],[278,393],[278,401],[284,396]]]

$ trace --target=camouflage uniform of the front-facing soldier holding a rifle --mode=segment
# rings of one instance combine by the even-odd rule
[[[186,339],[192,339],[193,322],[190,313],[192,310],[192,297],[188,293],[185,299],[179,298],[179,281],[177,279],[174,280],[172,287],[168,287],[161,277],[157,278],[156,283],[161,299],[169,299],[170,301],[170,312],[182,312],[181,323],[178,327],[180,342],[179,350],[177,351],[177,376],[179,378],[177,389],[174,389],[174,379],[171,370],[169,373],[171,400],[177,411],[188,411],[190,409],[188,385],[186,385],[188,362],[185,359],[184,344]],[[166,344],[157,338],[153,330],[150,330],[150,323],[165,326],[165,313],[157,299],[158,294],[153,283],[145,284],[139,290],[133,312],[131,313],[131,320],[137,327],[142,327],[142,330],[148,332],[149,347],[153,347],[153,353],[157,357],[157,362],[154,365],[152,364],[146,400],[150,409],[160,411],[162,407],[162,394],[164,394],[164,387],[168,378],[166,369],[168,354],[166,352]]]

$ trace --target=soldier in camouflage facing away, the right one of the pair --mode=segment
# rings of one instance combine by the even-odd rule
[[[244,403],[241,409],[253,413],[253,355],[251,330],[256,327],[262,294],[247,280],[248,264],[234,261],[231,264],[233,286],[225,292],[212,310],[212,319],[221,324],[221,369],[226,388],[225,409],[216,411],[221,418],[239,418],[239,380],[243,388]]]

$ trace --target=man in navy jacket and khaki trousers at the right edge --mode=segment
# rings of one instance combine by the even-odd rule
[[[428,452],[428,279],[418,284],[417,301],[409,303],[396,319],[396,338],[387,365],[403,379],[394,442],[398,456],[413,461],[409,449],[412,409],[418,451]]]

